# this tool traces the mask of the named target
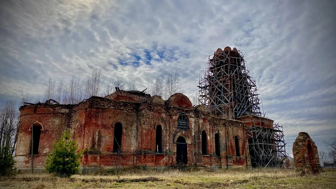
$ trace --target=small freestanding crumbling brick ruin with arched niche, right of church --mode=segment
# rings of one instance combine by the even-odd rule
[[[292,150],[296,172],[301,175],[322,174],[317,146],[308,133],[299,133]]]

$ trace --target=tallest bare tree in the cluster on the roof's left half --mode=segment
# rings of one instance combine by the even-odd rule
[[[86,81],[86,90],[88,97],[98,96],[101,86],[104,83],[102,69],[95,67]]]

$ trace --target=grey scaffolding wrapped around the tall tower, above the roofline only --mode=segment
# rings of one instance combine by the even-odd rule
[[[209,55],[204,78],[200,78],[198,86],[200,103],[215,117],[261,116],[258,89],[246,69],[243,53],[236,48],[225,49]]]

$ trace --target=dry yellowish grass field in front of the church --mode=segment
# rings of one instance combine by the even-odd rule
[[[115,175],[73,175],[57,178],[46,173],[19,174],[15,178],[0,178],[0,188],[72,189],[72,188],[292,188],[336,189],[336,170],[324,169],[323,175],[301,177],[293,169],[222,169],[180,171],[124,171],[118,180]]]

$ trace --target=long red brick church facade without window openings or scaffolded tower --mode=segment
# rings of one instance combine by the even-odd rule
[[[188,129],[177,126],[180,115],[187,118]],[[116,124],[122,125],[122,156],[113,152]],[[82,170],[147,165],[163,167],[176,164],[177,138],[186,141],[187,164],[198,166],[248,167],[251,165],[246,125],[240,121],[215,118],[204,106],[192,106],[182,93],[167,101],[160,96],[139,91],[116,91],[111,95],[91,97],[76,105],[39,103],[20,107],[16,166],[31,166],[31,125],[41,127],[38,155],[34,167],[43,168],[46,153],[66,128],[71,129],[79,150],[83,151]],[[162,128],[162,153],[156,152],[156,129]],[[202,131],[206,133],[206,154],[202,154]],[[215,134],[219,153],[215,153]],[[119,134],[118,134],[119,135]],[[235,137],[238,138],[236,147]],[[236,150],[239,150],[237,153]],[[238,156],[237,156],[238,154]],[[116,160],[116,158],[121,158]]]

